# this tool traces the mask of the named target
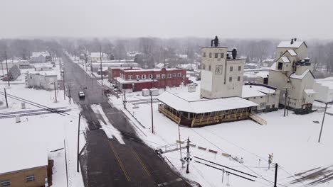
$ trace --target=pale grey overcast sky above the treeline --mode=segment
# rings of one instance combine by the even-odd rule
[[[332,0],[1,0],[0,38],[333,39]]]

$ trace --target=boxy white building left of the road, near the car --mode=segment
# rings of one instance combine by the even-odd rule
[[[29,71],[26,73],[26,77],[28,87],[53,90],[56,84],[58,89],[58,72],[56,71]]]

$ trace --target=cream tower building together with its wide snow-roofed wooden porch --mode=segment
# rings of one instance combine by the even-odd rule
[[[261,125],[266,122],[254,114],[258,104],[241,98],[245,60],[237,58],[237,50],[218,46],[202,47],[200,93],[159,96],[159,112],[177,124],[191,128],[251,118]]]

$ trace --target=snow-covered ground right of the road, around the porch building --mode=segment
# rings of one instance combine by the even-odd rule
[[[171,91],[185,94],[187,89],[186,87],[174,88]],[[199,86],[197,91],[199,91]],[[194,159],[191,161],[189,174],[186,174],[185,169],[181,168],[179,151],[164,154],[164,157],[169,159],[184,177],[199,182],[201,186],[227,186],[227,179],[224,174],[222,183],[222,171],[198,162],[210,164],[219,169],[222,169],[221,166],[196,157],[257,176],[254,178],[226,169],[226,171],[255,180],[248,181],[230,174],[228,176],[230,186],[273,186],[275,169],[273,164],[268,169],[268,154],[273,154],[273,163],[279,165],[277,186],[333,186],[333,181],[330,181],[333,179],[333,136],[331,135],[333,116],[326,115],[322,140],[318,143],[324,112],[324,106],[321,103],[315,103],[314,109],[317,111],[307,115],[295,115],[289,112],[287,117],[283,117],[283,110],[260,113],[260,117],[267,120],[268,125],[242,120],[202,128],[184,126],[179,128],[176,123],[158,112],[158,103],[153,103],[155,132],[153,135],[150,103],[137,104],[134,101],[147,100],[149,97],[133,93],[127,94],[126,98],[128,111],[124,109],[121,98],[112,98],[112,102],[117,108],[122,109],[134,123],[142,124],[142,126],[136,125],[136,128],[140,129],[137,132],[151,147],[157,148],[161,145],[175,143],[176,140],[179,140],[179,129],[181,140],[189,137],[191,144],[196,146],[190,149]],[[133,108],[134,105],[139,108]],[[333,113],[332,106],[329,106],[327,112]],[[206,148],[206,150],[202,148]],[[208,152],[208,149],[216,151],[217,154]],[[185,157],[185,152],[186,149],[183,149],[182,157]],[[227,154],[230,154],[231,157],[226,157]]]

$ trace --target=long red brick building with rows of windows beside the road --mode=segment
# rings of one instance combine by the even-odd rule
[[[117,71],[115,70],[113,74],[117,74]],[[113,79],[116,79],[121,89],[142,91],[142,89],[162,89],[164,86],[189,84],[186,69],[119,69],[119,71],[119,77]]]

